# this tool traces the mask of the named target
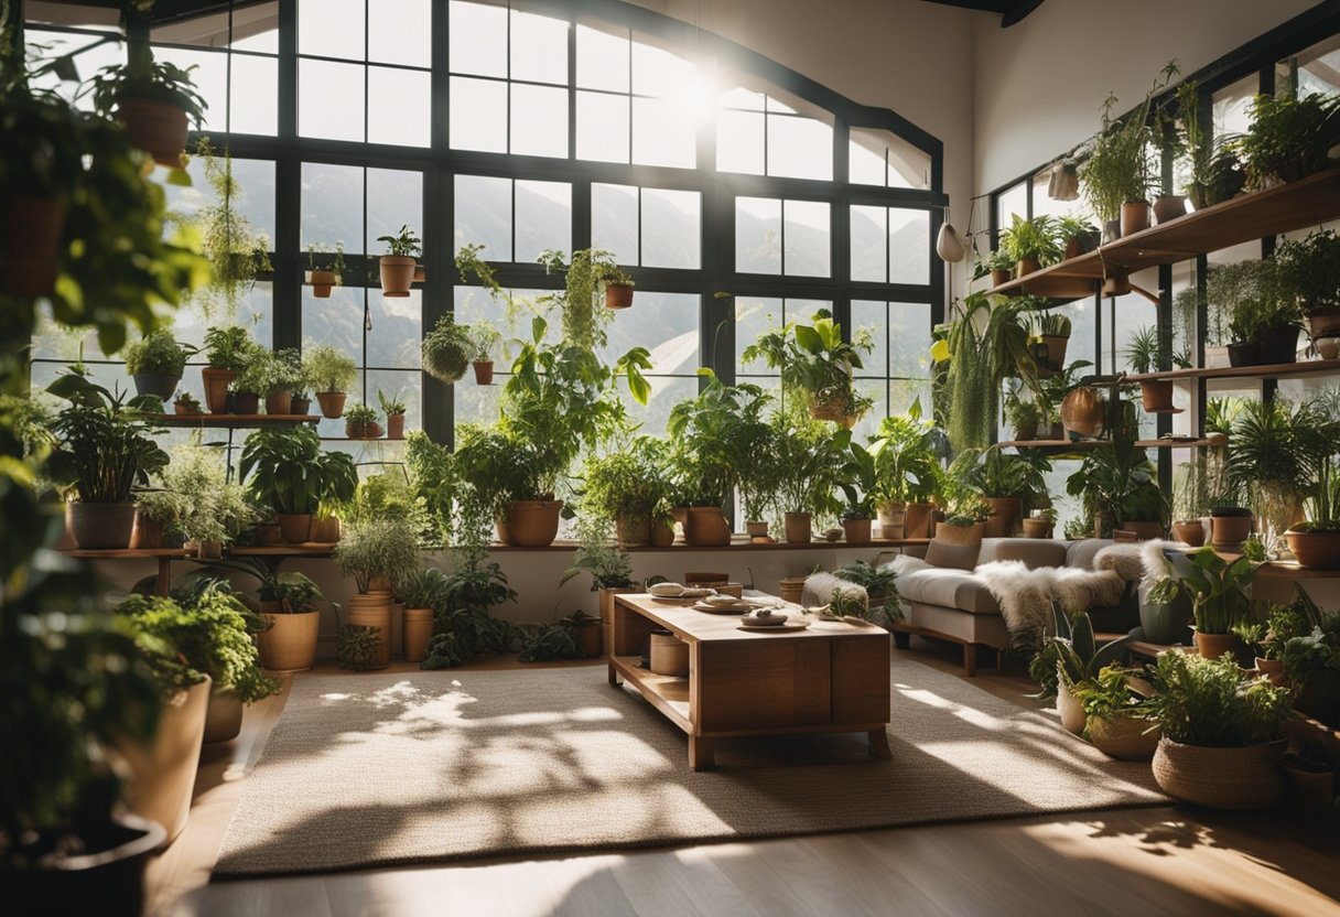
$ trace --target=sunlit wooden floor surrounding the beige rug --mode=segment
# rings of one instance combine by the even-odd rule
[[[913,648],[961,672],[954,650]],[[1032,702],[1017,664],[974,684]],[[1340,823],[1181,807],[210,883],[283,700],[249,708],[239,739],[206,747],[190,822],[149,869],[147,913],[1340,914]]]

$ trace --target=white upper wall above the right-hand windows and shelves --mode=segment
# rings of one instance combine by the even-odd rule
[[[1126,111],[1177,58],[1193,72],[1311,8],[1313,0],[1049,0],[1000,28],[974,20],[976,193],[1045,164]]]

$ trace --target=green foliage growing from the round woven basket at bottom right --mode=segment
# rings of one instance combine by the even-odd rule
[[[1172,741],[1240,748],[1281,737],[1289,690],[1246,676],[1229,654],[1163,653],[1150,673],[1156,689],[1150,705]]]

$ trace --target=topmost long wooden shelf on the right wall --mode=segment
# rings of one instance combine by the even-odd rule
[[[988,292],[1006,296],[1026,292],[1049,299],[1092,296],[1108,264],[1132,272],[1159,264],[1175,264],[1202,252],[1215,252],[1253,239],[1320,225],[1337,213],[1340,172],[1328,169],[1301,181],[1242,194],[1150,227],[1101,245],[1096,252],[1048,265]]]

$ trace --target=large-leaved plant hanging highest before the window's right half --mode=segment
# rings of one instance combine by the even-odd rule
[[[859,394],[852,382],[854,369],[862,369],[860,355],[874,349],[870,331],[860,330],[851,343],[843,341],[842,326],[832,314],[819,310],[813,324],[787,323],[745,347],[742,359],[762,359],[769,369],[781,369],[784,391],[791,391],[809,409],[815,420],[829,420],[851,428],[874,404]]]

